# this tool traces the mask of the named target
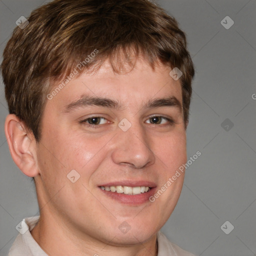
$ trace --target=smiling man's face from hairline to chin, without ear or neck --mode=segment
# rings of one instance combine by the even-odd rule
[[[112,244],[160,229],[183,183],[182,172],[172,176],[186,162],[181,86],[169,71],[137,59],[115,74],[105,62],[47,100],[36,149],[41,216]]]

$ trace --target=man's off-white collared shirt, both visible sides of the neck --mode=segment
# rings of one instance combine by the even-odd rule
[[[38,220],[39,216],[24,218],[16,227],[20,233],[14,240],[8,256],[48,256],[30,233]],[[157,242],[157,256],[195,256],[171,243],[160,231],[157,232]]]

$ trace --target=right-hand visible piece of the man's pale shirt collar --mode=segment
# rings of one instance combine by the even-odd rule
[[[157,232],[158,254],[157,256],[195,256],[194,254],[181,249],[178,245],[170,242],[167,237]]]

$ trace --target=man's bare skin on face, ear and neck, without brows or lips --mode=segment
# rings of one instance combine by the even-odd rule
[[[182,104],[180,81],[170,70],[158,62],[153,70],[138,58],[129,72],[116,74],[105,62],[97,72],[74,77],[47,100],[38,143],[15,115],[7,116],[12,158],[35,178],[40,220],[31,233],[49,255],[157,255],[156,232],[176,205],[184,174],[154,202],[138,205],[112,199],[98,186],[147,180],[158,190],[186,162],[182,108],[146,107],[148,100],[173,96]],[[82,95],[110,98],[120,106],[64,111]],[[152,115],[173,122],[151,123]],[[86,120],[92,116],[105,119],[92,127]],[[118,127],[123,118],[131,123],[125,132]],[[74,183],[67,178],[72,169],[80,175]],[[123,221],[130,226],[127,233],[118,228]]]

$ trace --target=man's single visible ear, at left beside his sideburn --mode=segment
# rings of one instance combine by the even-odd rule
[[[36,141],[32,132],[15,114],[8,114],[4,124],[9,151],[18,168],[27,176],[34,177],[39,171],[36,164]]]

